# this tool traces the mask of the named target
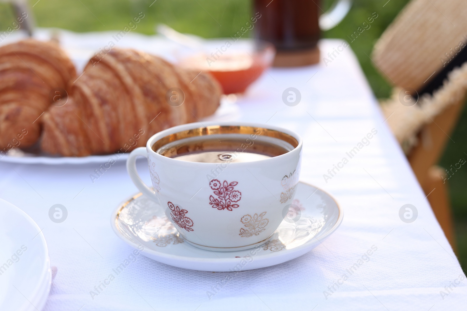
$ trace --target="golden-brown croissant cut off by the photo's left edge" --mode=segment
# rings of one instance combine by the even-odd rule
[[[75,75],[73,63],[54,43],[25,40],[0,47],[1,154],[36,143],[50,92],[65,88]]]

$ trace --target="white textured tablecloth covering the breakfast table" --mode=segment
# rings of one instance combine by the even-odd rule
[[[64,33],[62,42],[71,49],[83,45],[94,49],[106,45],[111,35]],[[323,40],[322,54],[332,52],[341,42]],[[119,46],[162,55],[169,55],[173,48],[162,39],[133,34]],[[301,92],[297,106],[282,101],[288,87]],[[57,267],[44,310],[465,310],[463,271],[383,123],[351,48],[327,66],[269,69],[244,97],[223,111],[214,118],[267,122],[302,135],[300,179],[336,197],[345,214],[340,228],[304,256],[239,273],[212,299],[206,292],[212,292],[226,273],[174,268],[144,256],[138,256],[92,297],[94,286],[133,251],[110,227],[113,209],[137,191],[124,163],[114,164],[94,183],[90,174],[98,164],[1,163],[0,197],[23,209],[43,228],[51,265]],[[346,152],[372,129],[377,134],[350,159]],[[328,169],[344,157],[348,163],[339,171],[334,169],[331,176]],[[142,161],[139,170],[150,182],[145,166]],[[323,174],[332,178],[325,180]],[[49,208],[57,203],[68,210],[63,223],[54,223],[48,216]],[[400,207],[408,203],[418,210],[412,223],[399,218]],[[372,248],[377,250],[367,261],[363,255]],[[355,263],[359,268],[350,274],[348,269]]]

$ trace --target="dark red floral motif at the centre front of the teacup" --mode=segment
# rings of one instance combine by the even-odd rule
[[[227,209],[229,211],[232,208],[239,207],[238,204],[233,204],[233,202],[238,202],[241,199],[241,192],[233,190],[233,187],[237,186],[238,182],[232,181],[230,184],[224,180],[221,183],[219,180],[214,179],[209,182],[209,187],[214,190],[214,194],[217,198],[214,198],[212,195],[209,196],[209,205],[219,210]]]

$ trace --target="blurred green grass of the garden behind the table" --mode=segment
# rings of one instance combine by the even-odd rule
[[[317,1],[317,0],[314,0]],[[387,98],[392,86],[375,70],[369,56],[375,41],[391,23],[408,0],[354,0],[347,17],[329,31],[325,38],[343,38],[351,35],[373,12],[378,18],[350,46],[377,98]],[[333,0],[321,0],[327,10]],[[206,38],[234,35],[251,14],[251,0],[31,0],[30,7],[38,27],[57,27],[76,32],[123,29],[139,12],[144,19],[134,31],[155,34],[155,26],[165,23],[177,31]],[[0,29],[5,30],[14,21],[13,12],[0,3]],[[249,33],[251,36],[251,33]],[[347,41],[349,41],[347,39]],[[467,111],[461,114],[453,141],[448,141],[440,165],[449,167],[467,159]],[[449,180],[450,198],[455,222],[457,252],[462,267],[467,267],[467,168],[459,169]]]

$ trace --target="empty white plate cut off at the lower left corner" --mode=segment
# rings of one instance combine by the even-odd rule
[[[52,274],[49,251],[37,224],[0,199],[0,310],[42,310]]]

